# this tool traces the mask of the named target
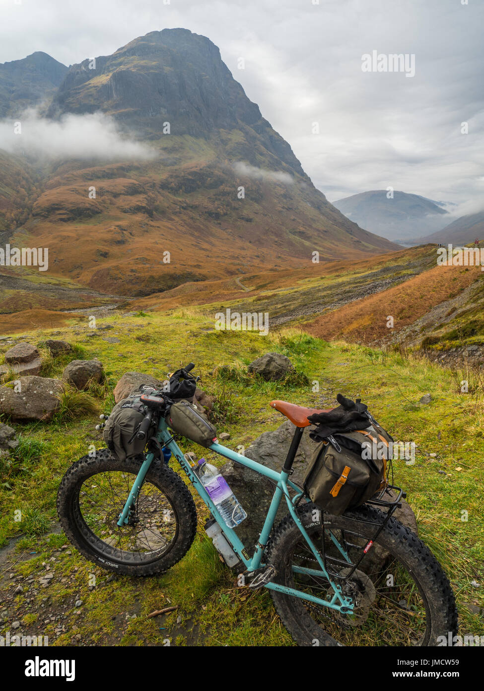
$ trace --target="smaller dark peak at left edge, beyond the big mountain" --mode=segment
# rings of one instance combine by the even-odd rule
[[[37,51],[21,60],[0,64],[0,117],[21,115],[54,95],[68,68]]]

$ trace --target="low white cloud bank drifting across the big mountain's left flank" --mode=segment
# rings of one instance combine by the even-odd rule
[[[64,115],[48,120],[30,109],[17,120],[0,120],[0,149],[41,158],[154,158],[155,151],[119,131],[104,113]]]

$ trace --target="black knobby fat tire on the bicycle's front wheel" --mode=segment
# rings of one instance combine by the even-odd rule
[[[151,482],[161,490],[175,510],[177,533],[171,548],[146,563],[115,560],[112,556],[106,558],[106,554],[95,549],[93,533],[80,518],[79,491],[83,482],[97,473],[108,471],[134,473],[134,480],[143,461],[142,455],[119,461],[107,448],[101,448],[96,451],[95,456],[84,456],[73,463],[62,478],[57,492],[57,513],[72,545],[99,567],[126,576],[154,576],[164,573],[184,557],[197,529],[197,510],[187,486],[171,468],[154,460],[146,474],[146,482]]]

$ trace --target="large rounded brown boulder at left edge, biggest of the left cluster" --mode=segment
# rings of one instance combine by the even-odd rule
[[[48,377],[20,377],[19,391],[10,386],[0,387],[0,413],[14,420],[42,420],[49,422],[60,406],[63,391],[59,379]]]

